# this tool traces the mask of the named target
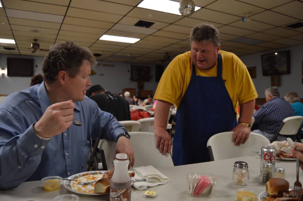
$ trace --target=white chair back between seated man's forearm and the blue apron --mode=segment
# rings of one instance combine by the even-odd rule
[[[173,167],[171,154],[162,155],[156,149],[156,135],[149,132],[130,132],[131,143],[135,152],[135,166],[152,165],[155,168]]]

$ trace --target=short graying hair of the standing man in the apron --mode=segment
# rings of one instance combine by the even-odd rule
[[[212,24],[198,24],[190,34],[190,43],[192,41],[209,43],[212,42],[216,47],[220,45],[220,33]]]

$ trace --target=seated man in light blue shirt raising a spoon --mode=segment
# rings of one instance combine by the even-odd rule
[[[9,95],[0,105],[0,189],[47,176],[84,172],[92,138],[116,141],[134,165],[126,129],[85,96],[95,57],[74,42],[51,46],[44,82]],[[73,118],[82,126],[73,125]]]

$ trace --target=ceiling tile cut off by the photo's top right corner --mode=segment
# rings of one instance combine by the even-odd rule
[[[273,8],[272,10],[282,13],[284,15],[288,15],[288,16],[303,20],[302,8],[303,8],[303,2],[293,1],[293,2],[289,2],[287,4],[284,4],[284,5],[281,5],[279,7]]]

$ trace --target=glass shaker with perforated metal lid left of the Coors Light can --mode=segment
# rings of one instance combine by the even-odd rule
[[[236,161],[232,180],[238,186],[247,186],[249,180],[248,164],[244,161]]]

